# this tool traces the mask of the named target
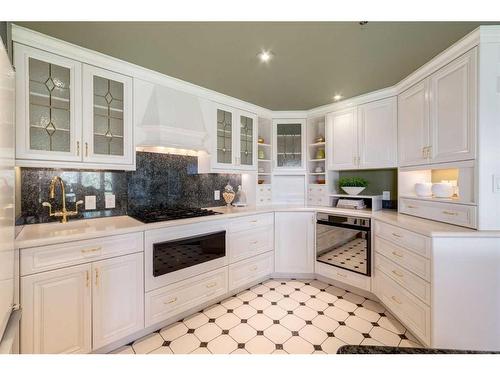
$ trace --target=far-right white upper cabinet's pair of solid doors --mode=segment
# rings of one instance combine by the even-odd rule
[[[476,60],[477,47],[398,96],[400,166],[475,158]]]

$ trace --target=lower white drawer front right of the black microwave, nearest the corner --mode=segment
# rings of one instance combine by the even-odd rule
[[[229,265],[229,290],[240,288],[274,272],[274,252]]]

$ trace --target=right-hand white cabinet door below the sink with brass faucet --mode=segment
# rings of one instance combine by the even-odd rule
[[[144,328],[143,254],[92,264],[93,349]]]

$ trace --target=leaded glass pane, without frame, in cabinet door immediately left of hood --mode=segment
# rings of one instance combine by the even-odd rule
[[[124,154],[123,83],[94,76],[94,154]]]

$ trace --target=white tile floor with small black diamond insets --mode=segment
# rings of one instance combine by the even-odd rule
[[[318,280],[271,279],[112,353],[336,353],[346,344],[420,347],[377,302]]]

